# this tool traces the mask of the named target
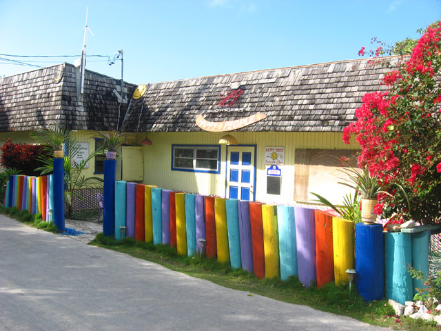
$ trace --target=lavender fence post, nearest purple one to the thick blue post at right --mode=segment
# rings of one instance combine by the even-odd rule
[[[307,288],[316,281],[316,223],[314,209],[295,206],[298,280]]]

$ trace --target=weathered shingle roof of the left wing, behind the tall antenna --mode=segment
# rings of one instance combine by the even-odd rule
[[[122,121],[127,103],[114,90],[119,79],[85,70],[83,104],[79,74],[69,63],[0,79],[0,132],[29,131],[58,122],[71,130],[111,130]],[[125,83],[131,96],[133,84]]]

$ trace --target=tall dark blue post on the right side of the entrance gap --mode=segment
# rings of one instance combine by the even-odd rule
[[[103,234],[113,236],[115,230],[116,160],[104,160]]]

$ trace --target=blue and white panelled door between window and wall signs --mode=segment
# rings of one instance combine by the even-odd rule
[[[227,199],[254,201],[254,146],[227,147]]]

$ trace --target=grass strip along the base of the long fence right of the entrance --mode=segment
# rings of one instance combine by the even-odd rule
[[[171,270],[207,279],[227,288],[243,290],[249,292],[249,295],[259,294],[288,303],[309,305],[325,312],[333,312],[373,325],[399,330],[437,330],[433,323],[396,317],[385,299],[372,303],[363,301],[355,288],[349,292],[348,285],[337,286],[329,283],[323,288],[316,288],[316,286],[305,288],[297,277],[290,277],[287,281],[257,279],[245,270],[234,270],[229,265],[218,263],[216,259],[198,256],[180,257],[175,248],[167,245],[152,245],[152,243],[143,243],[133,238],[116,240],[105,237],[102,233],[97,234],[90,244],[152,261]]]

